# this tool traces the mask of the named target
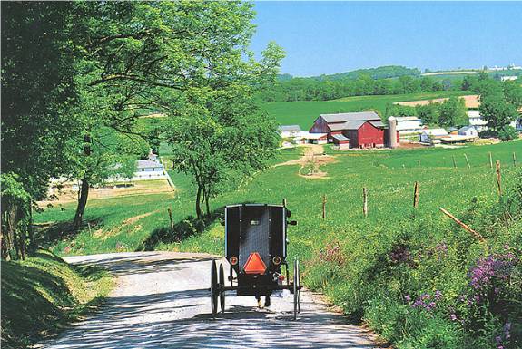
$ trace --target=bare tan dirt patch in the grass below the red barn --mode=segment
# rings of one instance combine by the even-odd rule
[[[299,175],[307,179],[327,179],[327,172],[320,170],[320,166],[335,163],[338,160],[334,156],[324,154],[324,148],[320,144],[307,144],[304,154],[300,159],[281,162],[275,165],[288,166],[300,165]]]

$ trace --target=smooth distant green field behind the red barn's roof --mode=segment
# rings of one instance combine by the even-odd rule
[[[297,124],[302,130],[309,130],[320,114],[377,110],[381,114],[386,105],[392,102],[431,100],[470,94],[466,91],[439,91],[386,96],[346,97],[334,101],[300,101],[264,103],[261,108],[267,111],[281,125]]]

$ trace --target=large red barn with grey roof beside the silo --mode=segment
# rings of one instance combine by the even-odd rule
[[[394,123],[395,126],[395,123]],[[339,145],[346,140],[350,148],[380,148],[389,144],[389,135],[386,125],[380,121],[380,117],[374,111],[347,112],[340,114],[320,114],[310,133],[326,133],[329,143]],[[342,135],[344,138],[334,138]],[[399,140],[399,132],[394,138]],[[395,144],[395,143],[394,143]],[[396,144],[395,144],[396,145]]]

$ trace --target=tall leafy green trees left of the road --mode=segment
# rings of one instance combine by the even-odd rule
[[[222,166],[245,175],[270,157],[275,139],[264,136],[275,125],[258,121],[251,99],[283,53],[269,44],[252,58],[251,4],[33,2],[2,12],[2,257],[24,257],[27,219],[52,177],[80,182],[78,229],[89,189],[132,175],[160,137],[197,184],[198,216],[228,178]],[[168,126],[144,129],[147,110]]]

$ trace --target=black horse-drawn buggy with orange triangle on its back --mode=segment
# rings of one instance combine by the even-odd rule
[[[241,204],[225,207],[225,252],[230,264],[225,282],[223,265],[212,260],[212,316],[225,311],[225,291],[235,290],[237,296],[255,296],[261,306],[270,306],[270,296],[276,290],[293,294],[293,317],[300,312],[299,260],[293,262],[293,281],[289,278],[286,230],[296,221],[288,221],[291,211],[284,205]],[[284,266],[285,274],[282,274]],[[235,276],[234,276],[235,275]],[[285,282],[286,279],[286,282]]]

